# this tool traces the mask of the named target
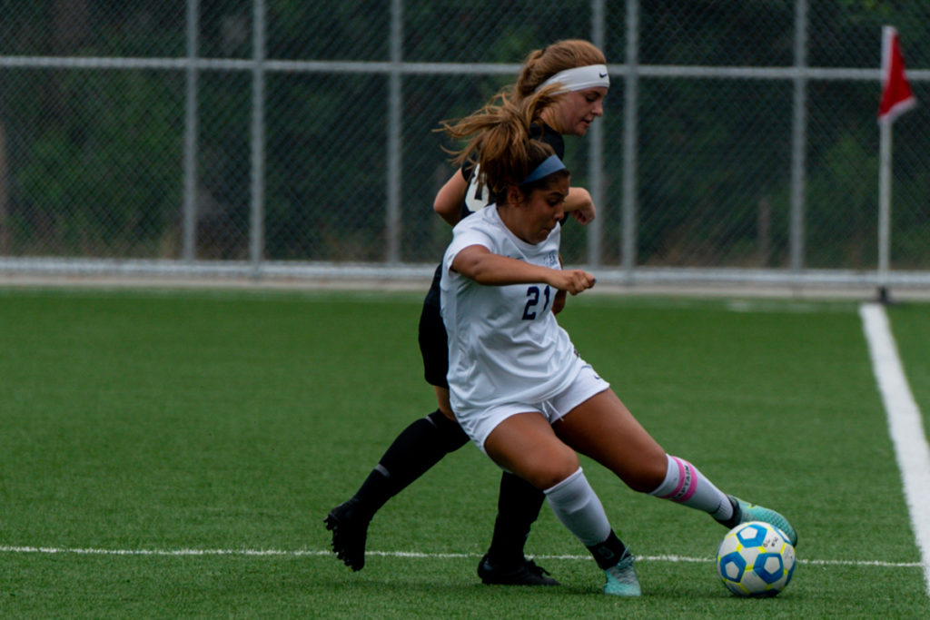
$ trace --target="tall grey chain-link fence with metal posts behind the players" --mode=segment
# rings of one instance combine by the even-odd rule
[[[0,272],[420,277],[433,131],[585,38],[611,92],[566,263],[619,282],[870,284],[881,28],[930,103],[930,5],[891,0],[0,0]],[[926,106],[895,125],[891,280],[930,286]]]

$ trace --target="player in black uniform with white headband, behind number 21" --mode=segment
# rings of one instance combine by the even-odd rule
[[[584,136],[593,120],[604,113],[603,101],[610,82],[603,52],[577,39],[535,50],[526,57],[508,96],[519,101],[552,84],[560,85],[561,94],[539,113],[532,132],[535,139],[549,144],[562,159],[565,156],[563,136]],[[463,166],[436,195],[433,210],[452,226],[488,202],[474,172],[472,166]],[[596,213],[591,194],[583,188],[570,188],[565,212],[582,224],[589,223]],[[439,276],[437,268],[419,319],[424,377],[435,390],[438,407],[404,429],[355,495],[333,508],[326,517],[326,528],[333,533],[333,551],[353,571],[365,566],[368,523],[379,508],[445,455],[469,441],[459,428],[449,403],[445,377],[448,348],[439,311]],[[552,310],[558,312],[564,303],[563,292],[556,298]],[[484,583],[558,585],[547,576],[548,572],[524,555],[526,537],[544,498],[541,491],[523,479],[511,473],[502,474],[491,546],[478,565],[478,574]]]

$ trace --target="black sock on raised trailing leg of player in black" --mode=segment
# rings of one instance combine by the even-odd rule
[[[468,442],[468,435],[438,409],[401,431],[362,483],[354,499],[372,515],[417,480],[443,456]]]

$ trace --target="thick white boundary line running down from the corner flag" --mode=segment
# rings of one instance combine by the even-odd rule
[[[859,306],[859,316],[888,415],[888,431],[895,444],[910,524],[921,550],[923,579],[930,596],[930,494],[927,493],[930,489],[930,447],[923,431],[923,418],[910,392],[883,306],[863,304]]]

